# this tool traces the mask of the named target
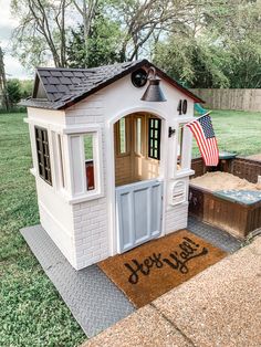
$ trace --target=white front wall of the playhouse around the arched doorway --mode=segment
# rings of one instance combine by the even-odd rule
[[[86,202],[73,203],[74,214],[74,238],[76,269],[85,267],[97,261],[106,259],[117,253],[116,245],[116,224],[115,224],[115,188],[114,188],[114,148],[112,147],[113,124],[116,118],[121,118],[135,111],[150,112],[165,120],[165,135],[163,141],[169,141],[171,146],[163,157],[163,172],[165,179],[165,201],[163,213],[163,235],[175,230],[187,227],[188,202],[171,207],[168,203],[168,180],[175,178],[176,162],[176,139],[167,138],[168,126],[178,127],[178,122],[187,122],[194,115],[194,102],[184,94],[175,91],[170,85],[161,82],[166,103],[145,103],[140,101],[140,95],[145,88],[136,88],[129,83],[130,76],[126,76],[103,91],[90,96],[65,111],[66,126],[77,127],[79,125],[100,125],[102,127],[102,153],[104,162],[104,198],[94,199]],[[177,115],[177,105],[180,98],[188,99],[188,112],[186,117]],[[152,105],[153,104],[153,105]],[[134,107],[135,105],[135,107]],[[190,153],[190,144],[188,150]],[[166,149],[166,145],[164,148]],[[188,166],[190,158],[187,158]],[[167,167],[167,162],[171,162]],[[188,170],[179,172],[178,179],[185,177],[188,186]],[[167,181],[167,182],[166,182]],[[186,199],[187,200],[187,199]]]

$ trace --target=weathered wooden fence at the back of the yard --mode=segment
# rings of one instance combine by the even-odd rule
[[[191,90],[211,109],[238,109],[261,112],[260,90]]]

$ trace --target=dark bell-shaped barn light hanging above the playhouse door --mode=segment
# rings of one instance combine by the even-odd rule
[[[144,102],[156,102],[156,103],[166,102],[166,98],[159,86],[160,78],[156,77],[155,67],[153,66],[149,67],[148,73],[147,73],[147,78],[148,78],[148,86],[140,99]]]

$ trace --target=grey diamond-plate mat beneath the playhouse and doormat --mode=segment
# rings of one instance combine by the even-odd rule
[[[237,239],[195,219],[189,218],[188,229],[227,252],[240,246]],[[128,298],[97,265],[75,271],[41,225],[24,228],[21,233],[88,337],[135,312]]]

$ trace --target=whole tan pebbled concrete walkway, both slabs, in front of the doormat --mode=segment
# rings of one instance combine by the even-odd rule
[[[261,236],[83,346],[260,347]]]

